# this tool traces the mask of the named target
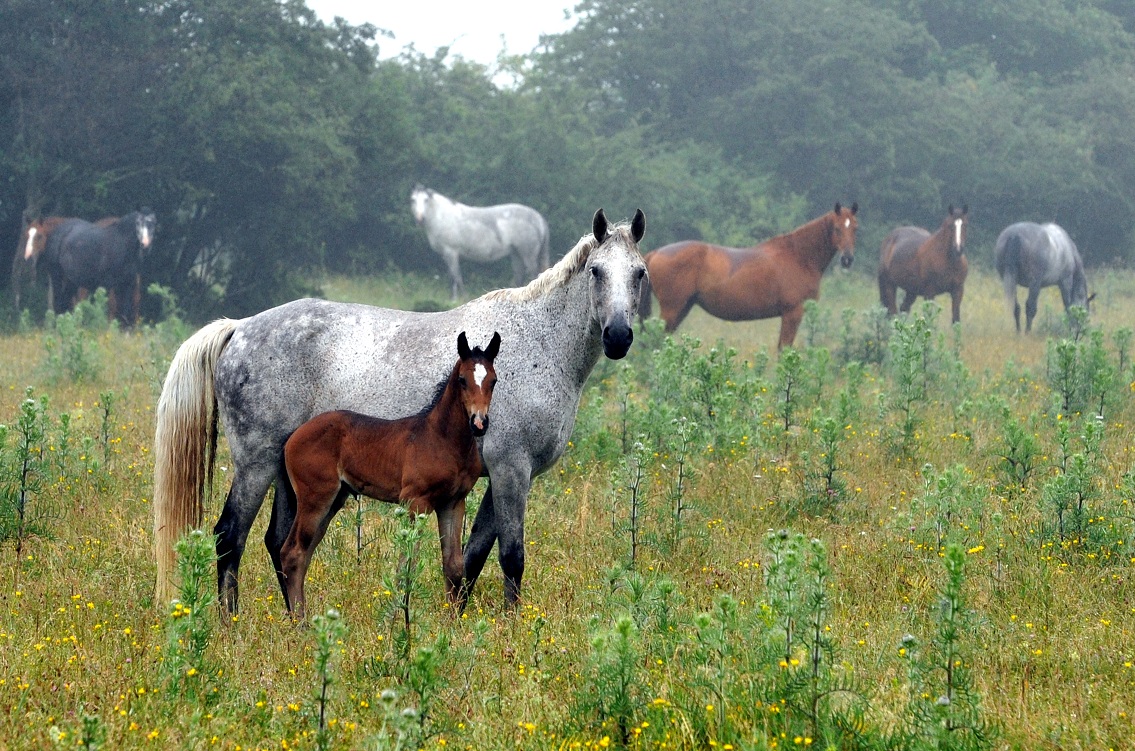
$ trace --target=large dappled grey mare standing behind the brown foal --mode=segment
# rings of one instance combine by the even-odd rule
[[[630,226],[608,226],[599,210],[591,234],[529,285],[449,311],[300,299],[239,321],[215,321],[190,337],[174,356],[157,411],[157,601],[173,592],[174,542],[201,524],[218,421],[232,454],[233,484],[215,528],[217,585],[222,605],[235,611],[241,556],[274,481],[264,543],[281,571],[280,547],[295,508],[284,471],[288,436],[331,410],[388,419],[415,413],[453,368],[447,353],[459,331],[480,340],[498,331],[524,346],[505,347],[494,363],[501,378],[494,429],[481,444],[489,486],[465,542],[465,577],[471,591],[497,543],[505,599],[515,604],[529,487],[568,446],[599,357],[619,360],[630,349],[646,278],[638,250],[645,230],[641,211]]]

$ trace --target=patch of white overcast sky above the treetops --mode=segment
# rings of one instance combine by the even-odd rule
[[[322,20],[342,16],[354,25],[369,23],[394,32],[393,40],[379,39],[384,58],[410,43],[427,54],[449,45],[451,54],[490,65],[502,47],[510,54],[524,54],[539,43],[540,34],[568,31],[572,24],[564,19],[564,10],[574,8],[577,0],[306,1]]]

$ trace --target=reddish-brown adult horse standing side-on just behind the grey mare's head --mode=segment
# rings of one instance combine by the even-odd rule
[[[835,204],[818,219],[760,243],[723,247],[697,241],[665,245],[645,256],[649,285],[658,297],[666,330],[673,331],[700,305],[726,321],[781,318],[777,348],[791,346],[804,318],[804,301],[819,298],[819,278],[840,253],[844,269],[855,259],[856,213]],[[639,314],[650,314],[650,295],[640,298]]]

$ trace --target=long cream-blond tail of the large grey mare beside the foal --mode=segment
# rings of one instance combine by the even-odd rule
[[[220,319],[185,340],[174,355],[158,400],[153,441],[154,604],[174,596],[174,543],[203,516],[205,487],[217,456],[217,360],[238,321]]]

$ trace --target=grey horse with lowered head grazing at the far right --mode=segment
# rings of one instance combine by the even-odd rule
[[[1033,330],[1041,287],[1059,286],[1066,311],[1073,305],[1087,310],[1092,297],[1095,297],[1087,294],[1087,277],[1084,276],[1084,261],[1079,256],[1079,250],[1059,225],[1037,225],[1032,221],[1009,225],[998,235],[997,245],[993,246],[993,263],[1001,277],[1004,298],[1012,309],[1017,334],[1020,334],[1017,285],[1028,287],[1028,299],[1025,301],[1026,332]]]

